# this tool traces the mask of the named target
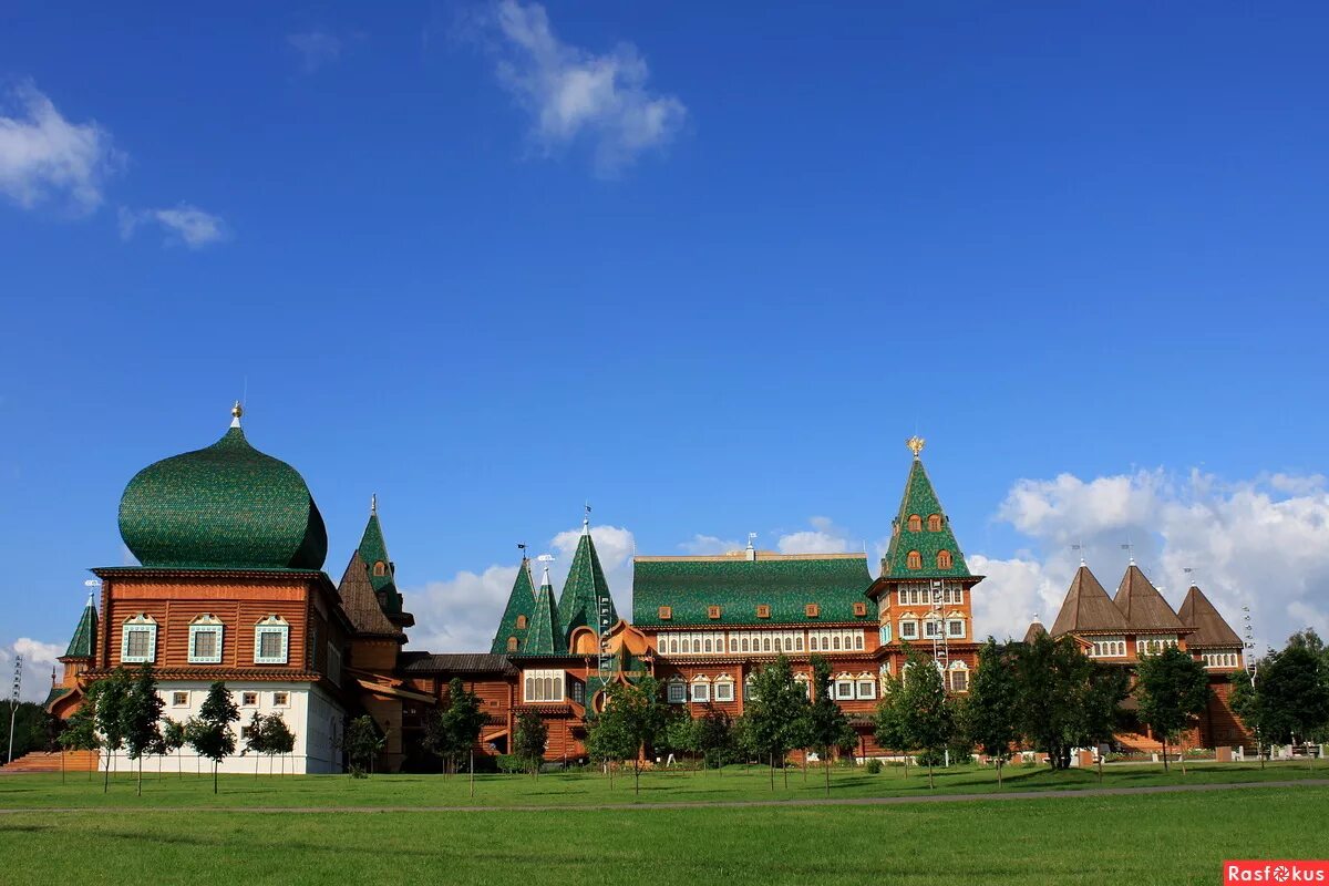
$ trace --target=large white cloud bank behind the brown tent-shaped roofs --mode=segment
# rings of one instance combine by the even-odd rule
[[[1033,607],[1054,598],[1059,606],[1079,563],[1073,543],[1084,546],[1094,574],[1114,591],[1127,541],[1174,607],[1192,578],[1239,634],[1249,606],[1260,650],[1308,626],[1329,627],[1329,491],[1317,477],[1276,477],[1227,484],[1200,472],[1177,478],[1142,470],[1088,482],[1070,474],[1019,481],[998,518],[1031,537],[1041,555],[970,558],[975,573],[994,579],[975,591],[987,619],[978,619],[978,632],[1019,636]],[[1057,607],[1038,611],[1050,624]]]

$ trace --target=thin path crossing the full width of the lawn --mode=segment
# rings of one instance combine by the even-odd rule
[[[1203,784],[1203,785],[1155,785],[1148,788],[1086,788],[1080,790],[1011,790],[1003,793],[975,793],[975,794],[922,794],[909,797],[845,797],[823,800],[716,800],[716,801],[679,801],[679,802],[621,802],[598,804],[585,806],[561,805],[528,805],[528,806],[159,806],[145,809],[142,806],[64,806],[40,808],[25,806],[21,809],[0,809],[0,816],[19,813],[144,813],[144,812],[242,812],[242,813],[296,813],[296,814],[323,814],[323,813],[384,813],[384,812],[618,812],[618,810],[651,810],[651,809],[756,809],[763,806],[896,806],[909,804],[930,802],[973,802],[975,800],[1047,800],[1054,797],[1122,797],[1135,794],[1174,794],[1193,793],[1201,790],[1244,790],[1249,788],[1302,788],[1326,786],[1329,778],[1301,778],[1296,781],[1243,781],[1236,784]]]

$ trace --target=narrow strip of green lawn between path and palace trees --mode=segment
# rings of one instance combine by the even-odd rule
[[[776,776],[771,790],[768,770],[730,766],[716,772],[643,773],[641,797],[633,781],[617,777],[610,788],[599,773],[528,776],[477,776],[476,798],[468,796],[464,776],[373,776],[352,780],[346,776],[222,776],[221,793],[213,796],[210,776],[185,773],[183,778],[166,769],[161,776],[149,764],[144,796],[134,796],[134,780],[126,773],[112,776],[110,793],[102,793],[101,773],[70,773],[65,784],[58,774],[0,776],[0,808],[51,806],[453,806],[453,805],[561,805],[654,804],[690,801],[801,800],[825,797],[821,770],[788,772],[789,786]],[[1156,765],[1108,765],[1104,788],[1132,788],[1166,784],[1244,782],[1318,777],[1329,778],[1329,766],[1309,770],[1304,762],[1201,764],[1183,776],[1172,766],[1168,773]],[[833,769],[831,797],[888,797],[928,793],[982,793],[997,790],[995,776],[979,766],[938,769],[936,792],[929,792],[926,770],[886,768],[870,776],[864,769]],[[1050,772],[1046,766],[1006,769],[1005,790],[1053,790],[1096,788],[1098,774],[1073,769]]]

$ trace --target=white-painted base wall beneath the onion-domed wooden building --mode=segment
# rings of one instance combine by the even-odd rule
[[[163,680],[158,683],[157,689],[166,703],[162,708],[162,716],[181,723],[197,717],[207,699],[210,685],[210,683],[202,681]],[[226,688],[230,689],[231,697],[239,708],[241,719],[231,725],[235,732],[235,753],[222,761],[218,772],[254,774],[255,762],[259,773],[264,774],[270,770],[280,773],[283,766],[286,774],[342,772],[342,752],[338,749],[338,744],[342,739],[346,711],[323,689],[308,683],[275,681],[227,681]],[[185,704],[177,704],[175,693],[178,692],[186,693]],[[243,703],[246,692],[256,693],[255,704]],[[274,693],[278,692],[286,693],[287,703],[284,705],[275,704]],[[253,754],[241,756],[245,749],[241,728],[249,724],[254,712],[263,716],[280,713],[287,728],[295,733],[295,749],[284,757],[282,754],[271,758],[259,756],[255,760]],[[101,764],[106,765],[105,754]],[[199,774],[213,772],[213,761],[199,757],[189,745],[162,758],[144,758],[144,772],[155,772],[158,765],[162,772],[183,770]],[[125,752],[120,751],[113,754],[110,766],[112,772],[129,772],[132,768],[137,769],[137,762],[130,761]]]

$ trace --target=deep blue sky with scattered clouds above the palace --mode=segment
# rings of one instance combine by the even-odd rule
[[[1325,630],[1326,19],[20,3],[0,644],[62,646],[246,391],[334,576],[379,493],[436,650],[586,499],[623,600],[634,549],[874,551],[916,432],[993,632],[1071,539]]]

